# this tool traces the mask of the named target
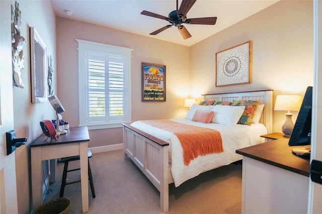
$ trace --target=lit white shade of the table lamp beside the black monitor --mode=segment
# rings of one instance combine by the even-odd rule
[[[274,110],[298,112],[301,108],[302,101],[302,95],[277,95]]]

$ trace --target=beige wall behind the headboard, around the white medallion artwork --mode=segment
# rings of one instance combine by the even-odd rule
[[[219,21],[219,18],[218,18]],[[253,41],[253,83],[215,87],[215,54]],[[273,89],[303,94],[313,84],[312,1],[281,1],[190,48],[190,93]],[[210,81],[209,81],[210,80]],[[273,112],[273,131],[281,132],[286,112]],[[293,113],[293,122],[297,113]]]

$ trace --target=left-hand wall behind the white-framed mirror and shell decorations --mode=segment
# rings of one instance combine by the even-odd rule
[[[49,102],[31,103],[30,85],[30,42],[29,27],[35,27],[47,46],[47,55],[53,58],[53,70],[56,71],[56,30],[55,14],[50,1],[18,1],[21,11],[21,35],[26,39],[24,45],[24,69],[21,77],[25,88],[13,87],[14,95],[14,129],[17,138],[27,138],[27,145],[17,148],[16,176],[19,213],[30,213],[30,143],[41,134],[40,121],[50,120],[55,111]],[[14,5],[14,1],[12,1]],[[10,23],[8,23],[10,25]],[[53,79],[56,79],[54,74]],[[56,88],[56,84],[54,84]]]

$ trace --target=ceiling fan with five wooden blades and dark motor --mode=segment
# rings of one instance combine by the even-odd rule
[[[163,28],[160,28],[150,35],[156,35],[164,30],[176,26],[182,36],[183,39],[188,39],[191,37],[191,34],[182,24],[191,24],[191,25],[215,25],[217,21],[217,17],[206,17],[206,18],[194,18],[194,19],[187,19],[187,13],[191,9],[191,7],[195,4],[197,0],[182,0],[180,8],[178,10],[178,0],[177,0],[177,10],[172,11],[169,14],[169,17],[165,17],[162,15],[154,14],[148,11],[142,11],[141,14],[149,17],[154,17],[158,19],[163,19],[170,22],[171,25],[167,25]]]

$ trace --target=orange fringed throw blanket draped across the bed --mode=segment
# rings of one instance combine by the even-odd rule
[[[223,152],[221,135],[218,131],[203,127],[191,126],[170,120],[141,121],[147,125],[175,134],[183,149],[185,165],[199,155]]]

